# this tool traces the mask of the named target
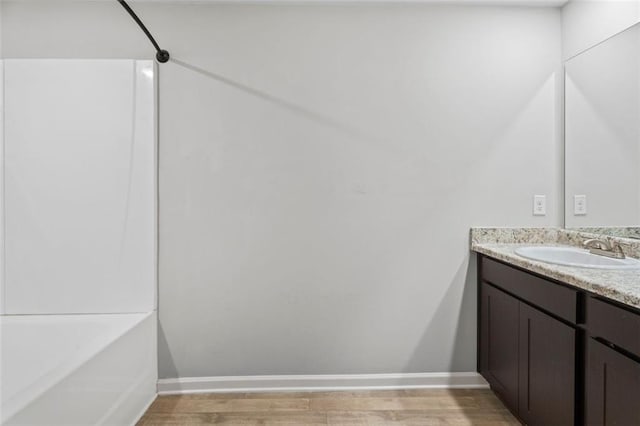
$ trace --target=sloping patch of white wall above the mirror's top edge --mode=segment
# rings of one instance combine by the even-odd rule
[[[640,22],[640,0],[570,0],[562,9],[563,57],[569,59]]]

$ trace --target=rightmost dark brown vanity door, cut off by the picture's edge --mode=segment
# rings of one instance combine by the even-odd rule
[[[640,363],[589,339],[586,385],[587,424],[640,425]]]

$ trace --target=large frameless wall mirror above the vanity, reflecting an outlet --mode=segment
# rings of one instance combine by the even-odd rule
[[[565,63],[565,227],[640,238],[640,24]]]

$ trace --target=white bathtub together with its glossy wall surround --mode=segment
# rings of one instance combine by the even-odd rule
[[[134,424],[157,383],[154,64],[0,70],[0,423]]]

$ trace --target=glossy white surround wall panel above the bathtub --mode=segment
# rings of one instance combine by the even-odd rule
[[[155,306],[153,64],[5,60],[7,314]]]

